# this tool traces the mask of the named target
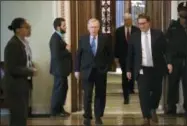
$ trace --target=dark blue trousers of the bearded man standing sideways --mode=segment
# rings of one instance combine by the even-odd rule
[[[54,86],[51,97],[51,114],[56,115],[62,112],[65,105],[68,91],[67,77],[54,76]]]

